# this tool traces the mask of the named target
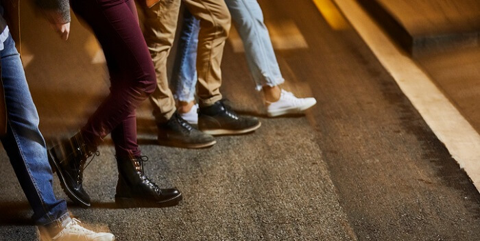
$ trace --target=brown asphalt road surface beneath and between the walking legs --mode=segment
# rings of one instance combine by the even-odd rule
[[[261,129],[217,138],[211,149],[160,147],[145,103],[138,130],[147,175],[178,187],[184,201],[117,208],[106,140],[84,173],[93,207],[69,202],[72,214],[118,240],[478,240],[479,192],[355,30],[332,28],[312,1],[259,2],[272,34],[285,37],[276,42],[285,88],[317,105],[305,116],[265,118],[229,40],[222,91],[236,110],[259,116]],[[27,79],[51,142],[73,134],[106,96],[106,68],[77,21],[68,42],[43,21],[23,23]],[[0,163],[0,240],[38,240],[4,151]],[[67,198],[56,177],[53,184]]]

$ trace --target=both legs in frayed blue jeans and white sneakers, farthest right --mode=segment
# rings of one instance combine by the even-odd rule
[[[280,89],[285,79],[280,73],[276,61],[272,41],[268,29],[263,23],[263,13],[256,0],[224,0],[232,20],[239,31],[250,73],[256,83],[257,90],[263,90],[267,114],[279,116],[283,114],[297,114],[316,103],[315,99],[298,99],[293,94]],[[194,101],[196,84],[195,52],[199,21],[188,11],[184,14],[184,25],[180,36],[180,66],[178,75],[173,79],[176,84],[176,99],[180,101],[182,116],[195,121],[195,112],[191,111]],[[195,108],[193,108],[195,110]],[[193,117],[190,117],[193,116]]]

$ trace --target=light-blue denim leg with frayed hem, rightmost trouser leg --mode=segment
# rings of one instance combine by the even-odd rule
[[[263,12],[256,0],[225,0],[232,21],[243,42],[250,73],[257,90],[262,86],[278,86],[283,79],[276,60],[272,40],[263,23]]]

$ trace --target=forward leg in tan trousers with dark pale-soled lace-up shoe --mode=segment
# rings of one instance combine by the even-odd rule
[[[242,134],[261,126],[256,118],[237,116],[221,101],[221,58],[230,29],[230,13],[224,1],[185,0],[189,11],[200,19],[197,48],[198,127],[206,134]]]

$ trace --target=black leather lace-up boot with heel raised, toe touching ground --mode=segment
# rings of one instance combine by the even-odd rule
[[[80,132],[48,151],[50,165],[56,171],[63,191],[84,208],[90,207],[90,196],[82,185],[84,165],[88,157],[94,153],[98,155],[96,151],[96,148],[87,146]]]

